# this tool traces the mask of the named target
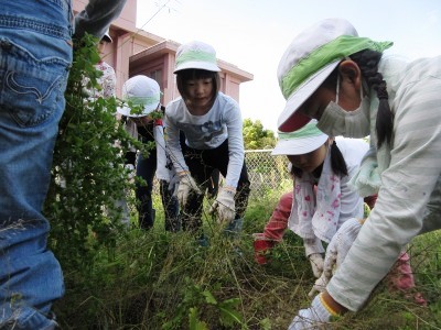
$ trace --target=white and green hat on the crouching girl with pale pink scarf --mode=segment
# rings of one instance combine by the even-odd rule
[[[271,155],[303,155],[322,146],[329,136],[316,128],[316,120],[311,120],[294,132],[279,131]]]

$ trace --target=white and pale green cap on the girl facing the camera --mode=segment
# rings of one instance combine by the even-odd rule
[[[181,45],[176,52],[173,73],[190,68],[220,72],[217,66],[216,51],[211,45],[200,41]]]

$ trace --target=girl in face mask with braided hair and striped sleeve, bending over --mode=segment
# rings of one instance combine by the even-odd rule
[[[300,33],[280,61],[287,106],[279,130],[314,118],[327,134],[370,135],[352,182],[362,196],[378,194],[326,290],[290,329],[359,310],[406,245],[441,228],[441,57],[408,63],[383,54],[391,45],[359,37],[346,20],[327,19]]]

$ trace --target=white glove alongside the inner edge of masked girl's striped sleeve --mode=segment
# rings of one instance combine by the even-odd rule
[[[338,268],[345,260],[347,252],[358,235],[363,222],[363,220],[352,218],[345,221],[334,234],[326,249],[323,273],[320,278],[315,280],[311,292],[308,294],[310,297],[314,296],[316,293],[322,293],[325,289],[334,274],[334,271]]]

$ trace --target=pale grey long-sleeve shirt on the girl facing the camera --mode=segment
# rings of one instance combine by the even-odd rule
[[[236,188],[244,165],[243,122],[238,103],[218,92],[216,100],[204,116],[190,113],[182,98],[165,107],[166,144],[176,172],[187,170],[180,144],[180,130],[187,146],[196,150],[218,147],[228,139],[229,162],[225,185]]]

